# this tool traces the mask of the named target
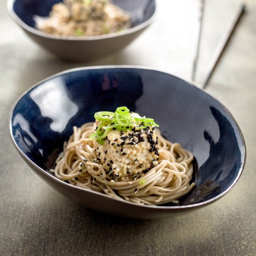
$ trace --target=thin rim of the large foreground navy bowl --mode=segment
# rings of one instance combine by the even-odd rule
[[[236,128],[239,132],[239,135],[241,137],[241,141],[242,141],[242,148],[241,148],[241,167],[239,168],[238,171],[238,175],[236,176],[235,180],[229,185],[229,187],[223,191],[221,194],[215,196],[214,198],[211,198],[207,201],[203,201],[203,202],[196,202],[193,204],[188,204],[188,205],[177,205],[177,206],[161,206],[161,205],[145,205],[145,204],[139,204],[139,203],[134,203],[134,202],[128,202],[125,200],[119,200],[113,197],[109,197],[108,195],[105,194],[101,194],[98,193],[96,191],[93,190],[89,190],[89,189],[85,189],[85,188],[81,188],[81,187],[77,187],[74,186],[72,184],[69,184],[67,182],[61,181],[60,179],[58,179],[57,177],[55,177],[54,175],[51,175],[50,173],[48,173],[46,170],[40,168],[38,165],[36,165],[36,163],[34,163],[30,158],[27,157],[27,155],[25,155],[22,150],[19,148],[19,146],[17,145],[16,141],[14,140],[13,137],[13,133],[12,133],[12,118],[13,118],[13,111],[16,108],[16,106],[18,105],[19,101],[24,97],[24,95],[26,95],[27,93],[29,93],[30,91],[32,91],[35,87],[40,86],[40,84],[49,81],[55,77],[58,77],[60,75],[63,74],[67,74],[67,73],[73,73],[76,71],[82,71],[82,70],[92,70],[92,69],[142,69],[142,70],[149,70],[149,71],[156,71],[159,73],[163,73],[163,74],[167,74],[169,76],[172,76],[174,78],[176,78],[179,81],[185,82],[187,83],[189,86],[192,86],[198,90],[200,90],[202,93],[206,94],[207,96],[209,96],[211,99],[217,101],[217,103],[219,103],[222,108],[229,114],[231,120],[234,122],[234,124],[236,125]],[[58,72],[56,74],[53,74],[39,82],[37,82],[36,84],[34,84],[32,87],[28,88],[23,94],[20,95],[20,97],[15,101],[15,103],[13,104],[13,108],[11,109],[10,115],[9,115],[9,132],[10,132],[10,137],[11,140],[13,142],[14,147],[16,148],[16,150],[19,152],[19,154],[22,156],[23,159],[25,159],[27,162],[29,162],[29,164],[31,164],[34,168],[36,168],[38,171],[40,171],[43,175],[47,175],[48,177],[50,177],[51,179],[54,179],[56,182],[61,183],[64,186],[68,186],[70,188],[73,189],[78,189],[78,190],[82,190],[82,191],[86,191],[89,193],[92,193],[94,195],[101,195],[101,196],[105,196],[106,199],[108,198],[109,200],[114,200],[120,203],[125,203],[125,204],[131,204],[132,206],[136,206],[136,207],[142,207],[142,208],[148,208],[151,210],[157,210],[157,209],[161,209],[163,211],[179,211],[179,210],[183,210],[183,209],[193,209],[193,208],[199,208],[205,205],[208,205],[210,203],[216,202],[218,199],[222,198],[224,195],[226,195],[231,189],[233,189],[235,187],[235,185],[237,184],[237,182],[240,180],[243,171],[244,171],[244,167],[245,167],[245,163],[246,163],[246,155],[247,155],[247,151],[246,151],[246,144],[245,144],[245,140],[243,137],[243,133],[238,125],[238,123],[236,122],[235,118],[233,117],[233,115],[229,112],[229,110],[217,99],[215,99],[213,96],[211,96],[210,94],[206,93],[202,88],[199,88],[197,86],[195,86],[195,84],[190,83],[188,81],[185,81],[175,75],[169,74],[165,71],[162,71],[161,69],[157,69],[157,68],[152,68],[152,67],[146,67],[146,66],[136,66],[136,65],[100,65],[100,66],[86,66],[86,67],[75,67],[75,68],[70,68],[61,72]]]

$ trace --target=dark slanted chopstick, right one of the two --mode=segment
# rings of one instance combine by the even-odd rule
[[[224,49],[226,48],[226,46],[228,45],[228,42],[229,42],[229,39],[231,38],[233,32],[235,31],[235,28],[236,28],[236,25],[238,24],[240,18],[242,17],[243,13],[245,11],[245,3],[242,2],[240,5],[239,5],[239,8],[236,10],[236,13],[230,23],[230,26],[228,27],[228,29],[224,32],[224,34],[222,35],[222,38],[221,40],[219,41],[219,44],[213,54],[213,57],[210,61],[210,64],[209,64],[209,67],[208,67],[208,70],[207,70],[207,73],[206,73],[206,76],[202,82],[202,88],[204,89],[216,66],[217,66],[217,63],[218,61],[220,60],[221,56],[222,56],[222,53],[224,52]]]

